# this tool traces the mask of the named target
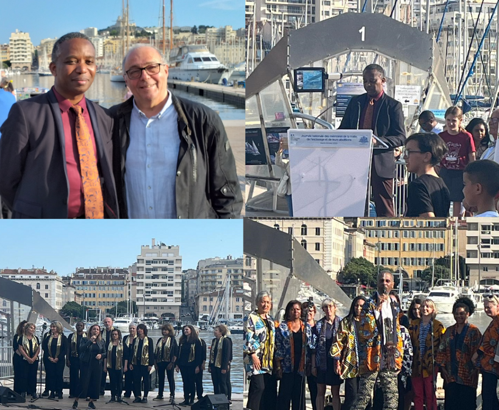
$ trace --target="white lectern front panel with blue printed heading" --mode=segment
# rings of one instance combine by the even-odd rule
[[[371,130],[287,131],[293,216],[364,216]]]

